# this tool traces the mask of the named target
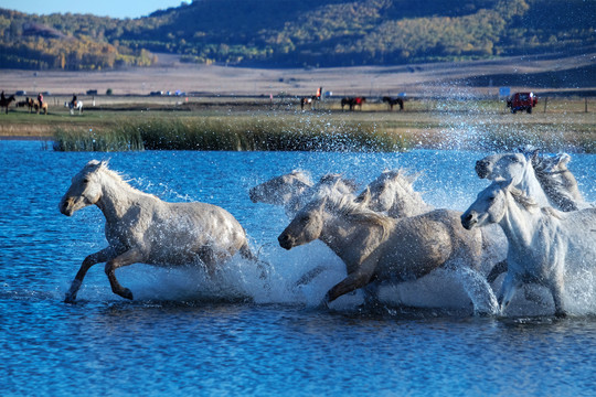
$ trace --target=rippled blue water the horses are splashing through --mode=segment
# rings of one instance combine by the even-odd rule
[[[441,291],[438,302],[446,304],[437,307],[428,288],[440,281],[435,278],[409,287],[423,303],[417,309],[369,310],[360,293],[319,309],[343,277],[342,264],[318,243],[279,248],[276,237],[288,223],[283,210],[247,195],[292,169],[313,178],[341,172],[365,184],[385,168],[405,167],[424,172],[416,187],[426,201],[465,210],[487,184],[473,172],[482,155],[60,153],[40,142],[0,141],[0,395],[594,395],[592,294],[565,320],[522,299],[508,316],[475,318],[454,286],[435,285],[454,289]],[[132,185],[162,200],[228,210],[272,264],[270,290],[237,258],[216,280],[200,270],[132,265],[117,273],[135,293],[130,302],[111,293],[97,265],[78,302],[63,303],[81,261],[105,238],[96,207],[66,217],[57,203],[88,160],[108,158]],[[586,154],[570,164],[589,201],[596,201],[595,165],[596,157]],[[294,287],[321,264],[329,270]]]

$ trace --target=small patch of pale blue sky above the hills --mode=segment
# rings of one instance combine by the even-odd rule
[[[139,18],[178,7],[182,0],[0,0],[0,8],[26,13],[92,13],[98,17]],[[190,2],[190,0],[188,1]]]

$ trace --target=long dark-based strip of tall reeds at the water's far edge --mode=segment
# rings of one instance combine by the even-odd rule
[[[58,130],[56,151],[403,151],[397,133],[374,122],[311,117],[205,117],[127,120],[106,132]]]

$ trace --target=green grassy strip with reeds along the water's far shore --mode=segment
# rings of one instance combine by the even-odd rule
[[[587,107],[587,112],[586,112]],[[387,110],[369,100],[342,111],[338,100],[300,110],[296,98],[120,98],[82,116],[11,111],[0,131],[39,129],[60,151],[283,150],[402,151],[413,148],[596,152],[596,100],[549,99],[533,114],[510,114],[499,100],[416,99]],[[42,132],[45,131],[45,132]]]

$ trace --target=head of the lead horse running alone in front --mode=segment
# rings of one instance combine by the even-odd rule
[[[102,198],[99,170],[107,167],[106,161],[89,161],[73,176],[71,187],[60,201],[60,212],[72,216],[76,211],[96,204]]]

